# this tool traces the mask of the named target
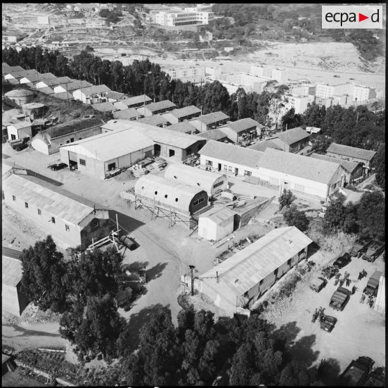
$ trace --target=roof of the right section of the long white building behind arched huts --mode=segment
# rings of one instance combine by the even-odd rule
[[[330,161],[267,148],[261,158],[260,168],[328,184],[339,165]]]

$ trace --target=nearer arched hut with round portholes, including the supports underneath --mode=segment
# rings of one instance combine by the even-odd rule
[[[209,196],[195,188],[156,175],[144,175],[135,185],[135,206],[146,207],[153,216],[170,218],[171,225],[178,221],[193,227],[193,215],[208,206]]]

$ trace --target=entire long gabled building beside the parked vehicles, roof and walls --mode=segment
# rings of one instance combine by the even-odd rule
[[[312,243],[296,227],[280,227],[248,245],[207,273],[195,288],[233,316],[252,307],[285,273],[302,259]]]

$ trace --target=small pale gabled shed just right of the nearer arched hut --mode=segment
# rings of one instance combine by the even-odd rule
[[[200,215],[198,236],[219,241],[233,232],[233,225],[234,211],[227,207],[215,207]]]

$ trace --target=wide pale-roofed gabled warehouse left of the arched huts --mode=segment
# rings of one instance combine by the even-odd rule
[[[154,142],[136,129],[117,130],[59,147],[60,161],[79,172],[105,179],[112,170],[126,168],[154,154]]]

